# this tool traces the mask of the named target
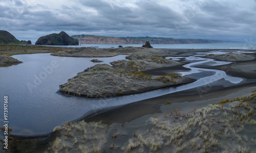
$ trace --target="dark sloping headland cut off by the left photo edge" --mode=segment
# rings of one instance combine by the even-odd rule
[[[19,41],[8,31],[0,30],[0,44],[31,44],[31,41]]]

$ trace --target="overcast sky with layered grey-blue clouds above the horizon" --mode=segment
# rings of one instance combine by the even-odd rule
[[[0,0],[0,30],[19,40],[65,31],[256,41],[256,0]]]

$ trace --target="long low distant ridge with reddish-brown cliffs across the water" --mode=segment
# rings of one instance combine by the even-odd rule
[[[192,43],[230,43],[234,41],[209,39],[174,39],[163,37],[106,37],[95,35],[74,35],[80,44],[144,44],[147,40],[152,44],[192,44]]]

